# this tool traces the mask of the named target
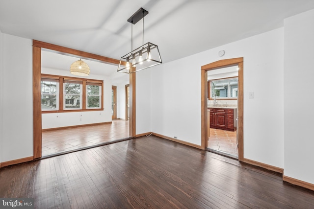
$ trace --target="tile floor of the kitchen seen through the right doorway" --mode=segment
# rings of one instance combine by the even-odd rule
[[[209,129],[208,147],[222,153],[238,157],[236,145],[236,131],[225,131],[220,129]]]

